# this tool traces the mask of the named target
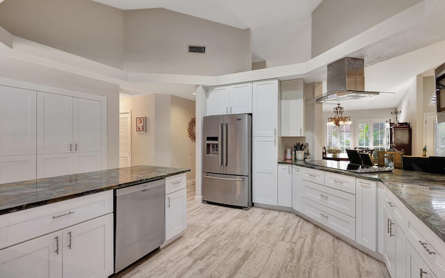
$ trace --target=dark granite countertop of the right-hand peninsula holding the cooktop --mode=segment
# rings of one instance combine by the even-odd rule
[[[394,169],[393,172],[355,173],[346,170],[348,161],[279,161],[302,167],[382,181],[403,204],[445,241],[445,175]]]

